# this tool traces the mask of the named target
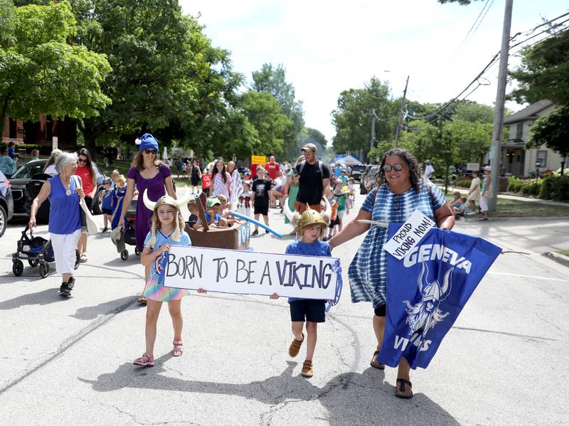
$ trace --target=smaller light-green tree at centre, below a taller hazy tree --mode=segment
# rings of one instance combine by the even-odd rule
[[[255,154],[282,154],[285,134],[292,121],[281,112],[275,97],[268,92],[250,90],[243,94],[240,107],[259,134],[260,151]]]

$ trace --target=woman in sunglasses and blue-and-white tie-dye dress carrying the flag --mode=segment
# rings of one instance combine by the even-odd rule
[[[378,171],[378,187],[368,193],[357,217],[329,240],[334,249],[369,230],[350,264],[348,277],[352,302],[373,302],[373,331],[378,346],[371,366],[382,370],[385,365],[377,358],[385,331],[385,284],[389,272],[383,245],[388,240],[388,229],[378,225],[371,227],[359,220],[403,223],[419,210],[435,220],[439,228],[451,229],[454,215],[445,194],[434,183],[422,179],[420,173],[418,161],[410,152],[400,148],[385,152]],[[395,386],[395,395],[399,398],[413,396],[409,373],[408,361],[401,358]]]

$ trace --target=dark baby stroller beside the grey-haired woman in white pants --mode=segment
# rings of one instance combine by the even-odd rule
[[[30,230],[28,237],[29,226],[22,231],[22,236],[18,240],[16,252],[12,255],[12,272],[16,277],[23,273],[23,262],[27,260],[31,267],[40,267],[40,277],[45,278],[49,274],[49,264],[55,261],[53,256],[53,247],[51,240],[46,240],[42,237],[34,237],[33,231]],[[75,269],[79,267],[80,254],[79,250],[75,250]]]

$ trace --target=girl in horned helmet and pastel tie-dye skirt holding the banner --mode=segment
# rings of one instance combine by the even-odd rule
[[[162,302],[168,302],[168,310],[174,326],[173,356],[181,356],[184,353],[182,342],[182,326],[184,324],[181,314],[181,298],[189,294],[188,290],[164,287],[164,275],[161,271],[167,259],[171,245],[191,245],[190,237],[184,231],[184,218],[180,212],[180,206],[186,200],[176,201],[170,196],[162,196],[158,201],[150,201],[147,192],[144,192],[144,206],[154,213],[151,218],[151,229],[144,240],[144,249],[140,256],[142,265],[151,266],[150,276],[144,287],[143,295],[148,299],[146,326],[144,336],[146,338],[146,351],[140,358],[133,361],[135,366],[154,366],[154,342],[156,341],[156,323]],[[198,293],[205,290],[198,289]]]

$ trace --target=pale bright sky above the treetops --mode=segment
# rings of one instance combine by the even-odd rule
[[[407,75],[412,100],[445,102],[458,95],[499,51],[504,20],[504,0],[489,0],[484,20],[462,43],[486,0],[470,6],[436,0],[180,3],[186,14],[201,14],[213,45],[231,51],[234,70],[248,81],[263,63],[282,63],[297,99],[304,102],[307,126],[329,141],[335,134],[330,114],[339,93],[363,87],[374,75],[387,80],[396,97],[403,94]],[[567,1],[514,0],[511,34],[567,11]],[[511,58],[510,68],[517,63]],[[497,64],[485,77],[491,84],[469,99],[492,105]],[[519,110],[521,105],[508,102],[506,107]]]

